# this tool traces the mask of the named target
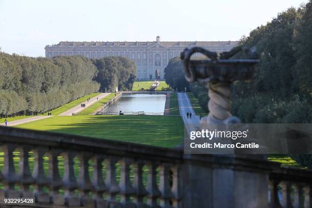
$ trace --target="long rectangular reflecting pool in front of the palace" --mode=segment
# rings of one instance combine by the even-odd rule
[[[118,115],[136,115],[144,112],[146,115],[164,115],[166,94],[122,94],[108,106],[103,113]]]

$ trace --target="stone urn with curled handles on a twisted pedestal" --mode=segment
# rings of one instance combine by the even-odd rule
[[[230,59],[240,51],[248,53],[251,58]],[[191,60],[191,56],[195,53],[201,53],[207,59]],[[259,63],[255,47],[247,49],[238,46],[223,53],[212,52],[201,47],[186,48],[180,58],[184,63],[188,82],[209,82],[209,115],[204,117],[201,123],[240,123],[240,119],[230,113],[230,85],[234,81],[252,79],[255,64]]]

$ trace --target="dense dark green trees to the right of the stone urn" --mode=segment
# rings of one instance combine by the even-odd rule
[[[242,41],[261,64],[252,83],[236,83],[233,113],[246,123],[312,122],[312,1],[280,13]],[[242,56],[241,56],[242,57]],[[312,168],[311,155],[292,155]]]

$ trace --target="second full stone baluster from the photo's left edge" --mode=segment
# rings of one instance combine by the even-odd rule
[[[30,146],[17,148],[17,151],[20,153],[17,181],[20,188],[20,194],[24,198],[33,196],[33,193],[29,190],[29,186],[34,183],[34,178],[29,168],[29,151],[31,149],[32,148]]]

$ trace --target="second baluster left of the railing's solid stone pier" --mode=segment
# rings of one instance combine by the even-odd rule
[[[160,166],[160,186],[159,189],[161,195],[161,207],[171,208],[170,200],[173,198],[170,186],[170,168],[171,164],[163,163]]]

